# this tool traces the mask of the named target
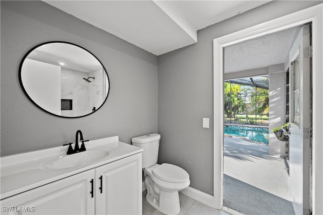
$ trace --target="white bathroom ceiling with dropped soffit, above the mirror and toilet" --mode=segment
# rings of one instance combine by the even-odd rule
[[[160,55],[196,43],[199,29],[270,1],[44,2]]]

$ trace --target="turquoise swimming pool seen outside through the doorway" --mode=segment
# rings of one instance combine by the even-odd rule
[[[225,125],[224,133],[233,136],[242,136],[252,141],[268,144],[269,131],[267,127],[253,127],[244,125]]]

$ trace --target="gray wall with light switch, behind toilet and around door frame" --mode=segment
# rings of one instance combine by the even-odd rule
[[[190,187],[213,195],[212,40],[320,3],[273,1],[204,28],[197,43],[158,56],[158,162],[183,167]],[[202,128],[203,117],[210,118],[209,129]]]

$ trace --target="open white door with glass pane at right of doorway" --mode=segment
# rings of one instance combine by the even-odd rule
[[[290,196],[296,214],[310,201],[310,25],[302,26],[290,52]]]

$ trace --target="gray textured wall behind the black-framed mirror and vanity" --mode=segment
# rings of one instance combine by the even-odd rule
[[[67,41],[92,52],[110,77],[110,94],[95,113],[61,118],[37,108],[19,84],[26,52],[43,42]],[[41,1],[1,1],[1,156],[86,139],[157,132],[157,57]]]

